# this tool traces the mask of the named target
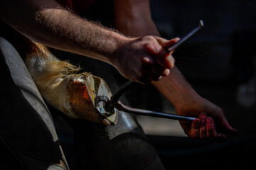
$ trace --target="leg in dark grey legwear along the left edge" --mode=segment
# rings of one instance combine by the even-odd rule
[[[18,52],[4,38],[0,38],[0,55],[0,149],[4,151],[0,162],[54,169],[65,158],[46,103]]]

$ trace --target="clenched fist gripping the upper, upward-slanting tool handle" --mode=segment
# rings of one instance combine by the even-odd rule
[[[117,50],[114,67],[127,79],[142,84],[168,76],[174,67],[174,57],[161,45],[163,40],[155,36],[130,38]],[[177,39],[165,41],[173,45]]]

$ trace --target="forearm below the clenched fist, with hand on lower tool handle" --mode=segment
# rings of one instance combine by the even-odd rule
[[[188,137],[224,140],[226,134],[236,132],[229,125],[222,109],[199,96],[176,67],[171,69],[168,77],[153,84],[174,105],[178,115],[196,118],[193,123],[181,122]]]

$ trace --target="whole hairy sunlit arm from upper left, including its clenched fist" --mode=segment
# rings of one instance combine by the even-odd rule
[[[156,38],[127,38],[75,16],[53,0],[4,1],[0,17],[31,40],[108,62],[132,81],[149,83],[167,76],[166,70],[174,66]]]

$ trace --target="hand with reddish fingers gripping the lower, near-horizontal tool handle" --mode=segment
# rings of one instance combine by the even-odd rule
[[[191,99],[193,101],[190,101]],[[181,122],[181,126],[188,137],[223,141],[226,134],[236,132],[228,123],[222,109],[200,96],[188,98],[186,104],[178,104],[176,112],[178,115],[196,117],[193,123]]]

